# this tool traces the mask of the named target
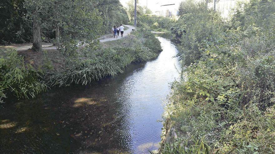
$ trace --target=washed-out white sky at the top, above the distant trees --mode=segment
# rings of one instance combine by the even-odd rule
[[[126,7],[126,3],[129,0],[120,0],[121,4]],[[160,10],[162,7],[161,5],[166,5],[166,4],[175,4],[172,6],[169,6],[171,9],[178,9],[179,3],[182,2],[183,0],[138,0],[139,5],[141,6],[146,6],[146,2],[148,3],[148,8],[150,10],[157,11]]]

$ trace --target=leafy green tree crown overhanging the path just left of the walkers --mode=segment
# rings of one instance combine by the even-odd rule
[[[52,2],[48,22],[54,27],[56,46],[65,47],[65,52],[72,53],[79,42],[91,44],[98,37],[103,25],[95,1],[53,0]]]

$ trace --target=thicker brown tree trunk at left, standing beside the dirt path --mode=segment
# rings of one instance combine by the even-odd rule
[[[34,49],[35,51],[42,51],[40,32],[41,27],[35,19],[33,20],[32,30],[32,49]]]

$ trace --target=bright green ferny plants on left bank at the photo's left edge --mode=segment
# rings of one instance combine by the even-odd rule
[[[24,65],[23,57],[17,51],[2,50],[0,57],[0,98],[4,91],[11,91],[18,98],[34,98],[47,90],[47,86],[31,65]]]

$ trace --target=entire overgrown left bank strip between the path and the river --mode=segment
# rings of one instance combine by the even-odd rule
[[[122,73],[132,62],[154,58],[162,50],[160,42],[147,30],[132,32],[112,46],[86,46],[63,53],[2,50],[1,98],[12,93],[18,98],[33,98],[53,86],[86,85],[105,76]],[[2,100],[2,99],[1,99]]]

